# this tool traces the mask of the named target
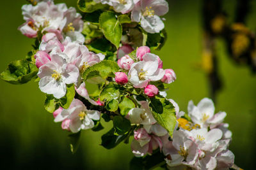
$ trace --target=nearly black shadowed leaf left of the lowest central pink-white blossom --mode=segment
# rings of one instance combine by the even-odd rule
[[[120,135],[120,136],[116,136],[114,133],[115,133],[115,129],[112,128],[106,134],[101,136],[101,145],[104,148],[106,149],[115,148],[115,146],[117,146],[119,143],[129,138],[130,136],[130,133]]]

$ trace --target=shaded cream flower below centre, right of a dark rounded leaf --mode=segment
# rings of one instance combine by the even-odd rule
[[[142,108],[132,108],[126,118],[130,120],[131,124],[150,125],[155,124],[156,120],[153,117],[147,101],[141,101]]]

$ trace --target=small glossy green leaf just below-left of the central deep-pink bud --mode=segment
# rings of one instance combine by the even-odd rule
[[[118,99],[119,95],[119,86],[115,85],[113,82],[110,82],[100,93],[99,99],[100,101],[111,101],[113,99]]]

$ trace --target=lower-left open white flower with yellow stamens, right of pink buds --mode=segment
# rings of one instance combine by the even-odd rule
[[[81,129],[92,129],[93,120],[99,120],[100,113],[96,110],[87,110],[81,101],[74,99],[67,110],[62,110],[57,115],[54,122],[61,122],[66,118],[70,120],[70,131],[76,133]]]

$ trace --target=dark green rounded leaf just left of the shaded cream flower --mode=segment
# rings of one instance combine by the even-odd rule
[[[131,129],[131,122],[127,118],[115,116],[113,118],[113,127],[116,135],[126,134]]]

